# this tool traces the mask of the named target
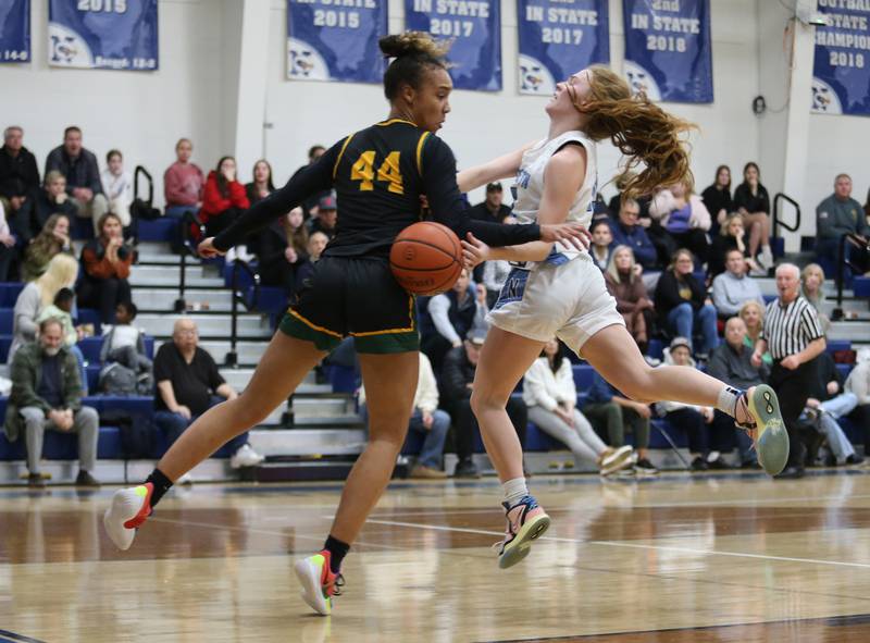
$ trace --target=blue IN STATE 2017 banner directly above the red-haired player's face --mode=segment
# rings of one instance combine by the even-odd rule
[[[550,95],[556,83],[610,62],[607,0],[517,0],[520,94]]]

